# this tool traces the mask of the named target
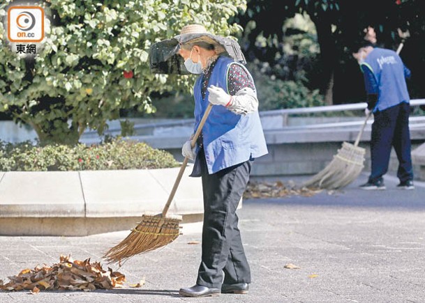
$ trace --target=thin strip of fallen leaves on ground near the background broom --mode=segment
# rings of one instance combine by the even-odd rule
[[[288,185],[281,181],[249,182],[244,193],[244,199],[253,198],[281,198],[285,196],[313,196],[321,192],[321,189],[309,189],[306,187],[297,188],[294,182],[289,181]]]

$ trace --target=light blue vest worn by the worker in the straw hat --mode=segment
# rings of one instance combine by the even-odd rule
[[[219,56],[208,85],[221,87],[228,92],[228,72],[232,64],[239,63],[228,57]],[[241,66],[244,68],[243,65]],[[251,77],[248,70],[246,72]],[[202,98],[202,80],[203,75],[201,74],[193,88],[195,98],[194,130],[197,129],[209,104],[208,90],[205,93],[205,98]],[[258,111],[241,116],[234,114],[226,107],[214,105],[202,128],[202,137],[205,160],[210,174],[268,153]],[[197,164],[195,162],[191,176],[200,176],[200,167]]]

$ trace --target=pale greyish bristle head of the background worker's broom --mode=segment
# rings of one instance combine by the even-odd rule
[[[342,148],[338,150],[334,159],[325,169],[322,169],[301,186],[338,189],[349,185],[363,170],[365,153],[364,148],[343,142]]]

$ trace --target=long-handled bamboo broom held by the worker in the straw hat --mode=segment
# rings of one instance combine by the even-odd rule
[[[200,125],[197,127],[195,135],[191,140],[192,148],[195,147],[196,140],[200,136],[202,127],[204,127],[211,109],[212,104],[209,103],[204,116],[202,116]],[[158,215],[151,215],[148,213],[142,215],[142,221],[131,230],[131,233],[127,236],[127,238],[112,247],[106,252],[105,256],[103,256],[107,262],[121,263],[121,261],[126,261],[128,258],[137,254],[152,251],[170,244],[179,236],[181,216],[167,215],[167,212],[172,200],[174,199],[174,195],[177,192],[177,188],[179,187],[179,183],[188,164],[188,160],[188,157],[185,157],[181,164],[179,175],[174,182],[174,186],[172,187],[167,203],[165,203],[163,212]]]

